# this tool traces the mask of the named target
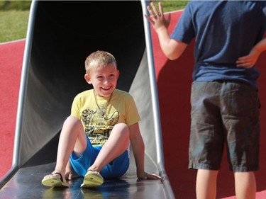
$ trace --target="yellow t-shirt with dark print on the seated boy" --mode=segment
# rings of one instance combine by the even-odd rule
[[[93,146],[104,145],[114,125],[129,126],[140,121],[133,97],[118,89],[111,98],[95,96],[94,89],[79,93],[72,103],[71,115],[82,121]]]

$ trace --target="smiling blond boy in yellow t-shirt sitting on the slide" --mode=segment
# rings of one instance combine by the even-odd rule
[[[133,97],[116,89],[119,71],[109,52],[93,52],[85,61],[85,80],[94,89],[79,93],[71,115],[60,134],[55,171],[43,178],[45,186],[68,186],[70,164],[82,187],[94,188],[104,178],[120,177],[129,166],[129,145],[133,149],[137,177],[160,179],[144,171],[144,142],[138,122],[140,116]]]

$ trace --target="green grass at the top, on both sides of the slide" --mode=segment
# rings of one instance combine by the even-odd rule
[[[156,5],[157,5],[156,1]],[[184,8],[188,1],[162,1],[164,12]],[[0,0],[0,42],[26,38],[31,1]]]

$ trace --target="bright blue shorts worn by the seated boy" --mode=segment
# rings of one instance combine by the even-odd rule
[[[77,158],[74,152],[70,156],[70,163],[74,171],[76,171],[79,176],[85,176],[89,166],[92,166],[96,157],[101,150],[101,146],[93,147],[89,138],[87,137],[87,148],[81,157]],[[119,157],[113,159],[111,163],[104,166],[100,174],[104,178],[118,178],[123,176],[123,174],[128,171],[129,167],[129,154],[128,150],[123,152]]]

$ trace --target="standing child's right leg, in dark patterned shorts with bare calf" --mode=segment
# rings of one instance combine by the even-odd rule
[[[227,129],[228,161],[235,176],[236,198],[255,198],[253,171],[259,169],[260,101],[257,90],[245,83],[223,87],[222,118]]]

